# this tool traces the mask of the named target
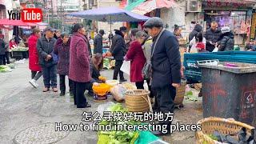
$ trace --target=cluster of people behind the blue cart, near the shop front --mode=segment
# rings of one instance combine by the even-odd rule
[[[174,26],[174,35],[182,38],[182,28]],[[218,27],[218,22],[211,22],[210,29],[203,33],[202,26],[194,23],[194,30],[189,34],[190,53],[234,50],[234,31],[229,26]]]

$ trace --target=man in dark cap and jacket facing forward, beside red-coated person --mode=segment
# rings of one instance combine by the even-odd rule
[[[45,85],[42,91],[49,91],[51,86],[54,92],[58,92],[57,61],[55,60],[55,55],[53,53],[54,44],[56,42],[56,39],[54,38],[54,29],[46,27],[44,32],[45,36],[39,38],[37,42],[39,64],[42,66],[42,76]]]

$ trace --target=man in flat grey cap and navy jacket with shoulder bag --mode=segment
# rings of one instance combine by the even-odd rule
[[[157,91],[158,110],[165,115],[174,113],[176,88],[180,86],[181,82],[181,56],[178,39],[173,33],[163,29],[161,18],[150,18],[145,22],[144,27],[154,38],[151,58],[152,88]],[[170,118],[159,122],[159,125],[167,126],[167,133],[170,133],[170,124]],[[163,134],[162,131],[153,131],[153,133]]]

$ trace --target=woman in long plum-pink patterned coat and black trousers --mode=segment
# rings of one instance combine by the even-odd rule
[[[73,26],[73,36],[70,41],[70,71],[69,78],[74,81],[74,105],[86,108],[91,105],[86,102],[85,90],[92,86],[90,77],[90,56],[85,28],[80,23]]]

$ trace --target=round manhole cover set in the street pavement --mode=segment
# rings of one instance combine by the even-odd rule
[[[17,144],[37,144],[53,143],[65,138],[70,131],[55,131],[54,123],[31,126],[26,130],[20,131],[15,137]]]

